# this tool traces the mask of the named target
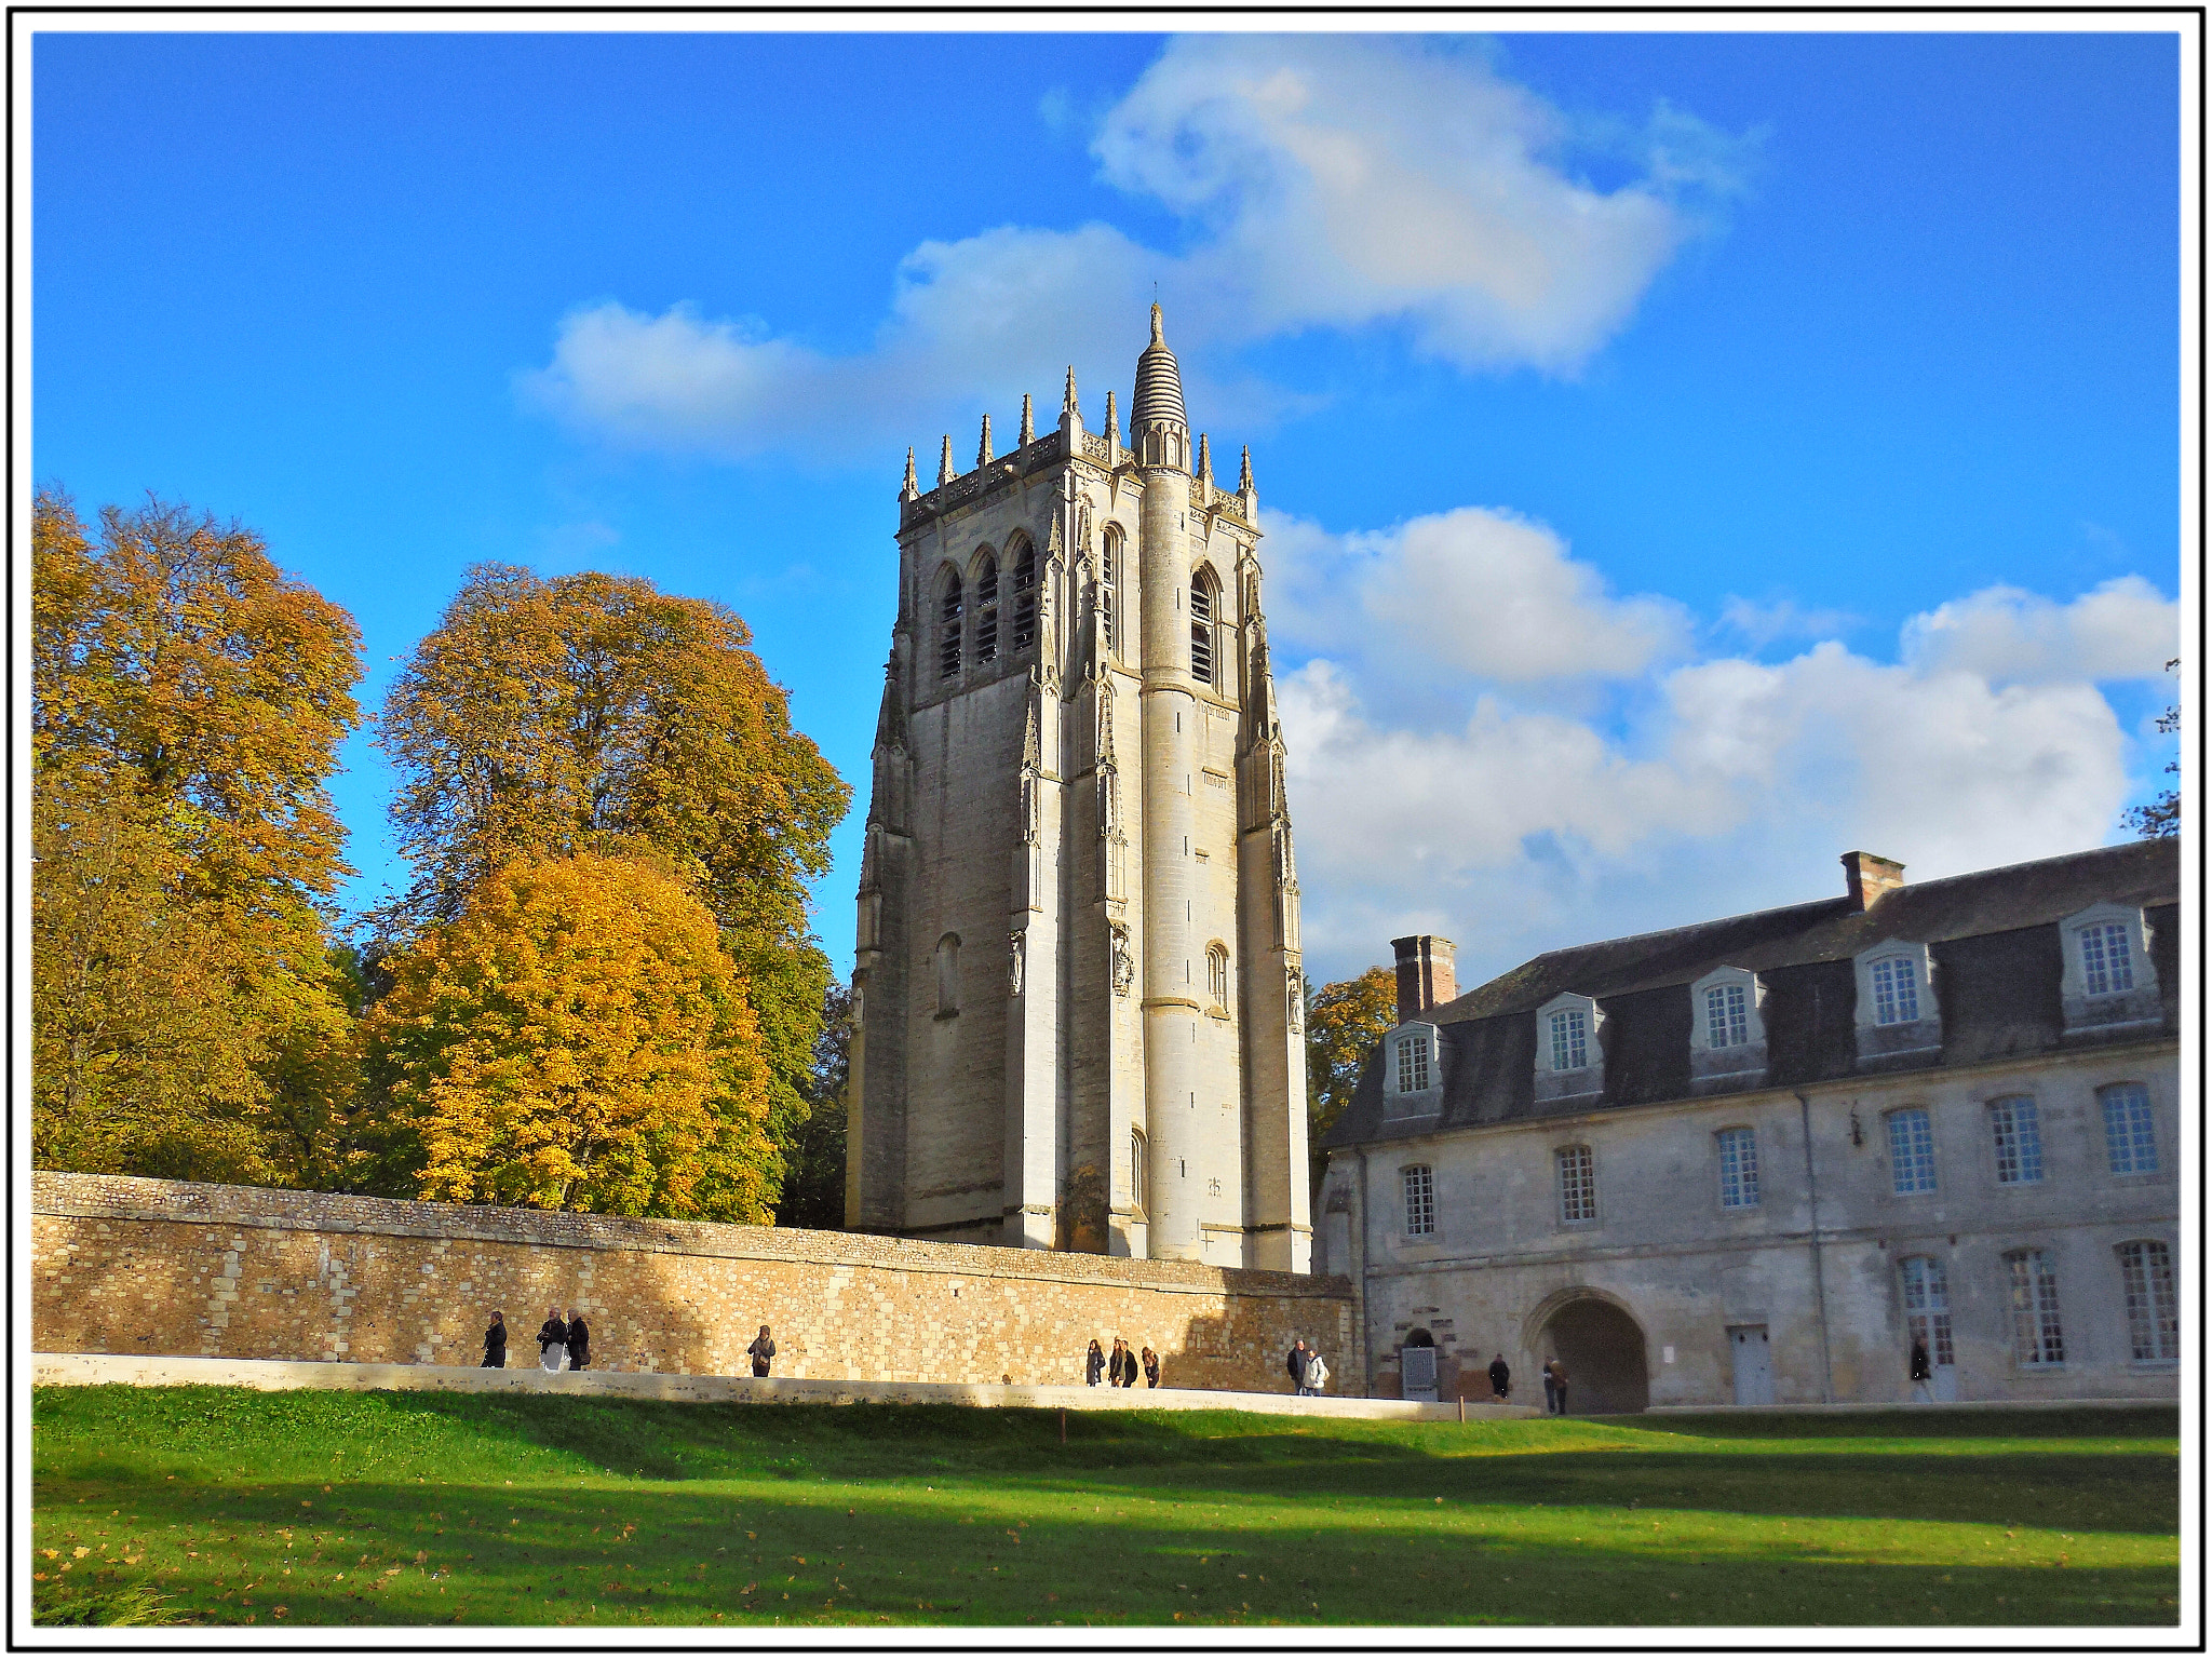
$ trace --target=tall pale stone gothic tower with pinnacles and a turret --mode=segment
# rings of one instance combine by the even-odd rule
[[[1159,307],[1121,445],[1029,398],[898,495],[845,1225],[1307,1272],[1298,876],[1259,498]]]

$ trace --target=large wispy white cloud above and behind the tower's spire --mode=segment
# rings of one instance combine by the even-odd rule
[[[522,394],[635,447],[880,440],[951,411],[964,425],[1024,385],[1055,392],[1068,361],[1119,385],[1155,281],[1212,418],[1254,418],[1283,394],[1210,380],[1206,347],[1228,367],[1228,347],[1312,327],[1396,325],[1462,367],[1573,372],[1697,232],[1686,199],[1725,188],[1732,166],[1730,139],[1661,108],[1639,177],[1601,190],[1568,168],[1579,135],[1467,51],[1175,40],[1104,117],[1095,153],[1108,181],[1183,219],[1183,252],[1104,223],[927,241],[900,263],[872,345],[847,356],[692,305],[582,305]]]

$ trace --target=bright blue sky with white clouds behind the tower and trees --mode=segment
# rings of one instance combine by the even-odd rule
[[[2117,838],[2172,752],[2172,35],[66,35],[33,458],[380,699],[476,560],[726,599],[863,792],[907,445],[1252,445],[1310,967]],[[2194,484],[2194,480],[2190,480]],[[338,799],[394,878],[365,734]],[[823,883],[849,962],[865,801]]]

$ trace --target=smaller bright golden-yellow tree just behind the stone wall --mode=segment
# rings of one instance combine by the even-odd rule
[[[422,1197],[770,1219],[745,982],[657,856],[522,856],[385,967],[369,1066],[414,1126]]]

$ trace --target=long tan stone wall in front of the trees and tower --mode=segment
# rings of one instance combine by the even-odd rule
[[[1354,1376],[1345,1279],[1177,1261],[58,1172],[31,1259],[51,1354],[473,1365],[500,1307],[520,1367],[557,1303],[611,1371],[739,1374],[765,1323],[794,1378],[1079,1383],[1093,1336],[1161,1387],[1287,1389],[1298,1336]]]

